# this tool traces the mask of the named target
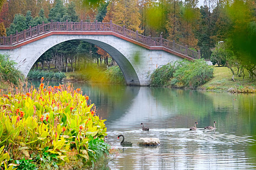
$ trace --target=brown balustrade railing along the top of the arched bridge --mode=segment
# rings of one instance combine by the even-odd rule
[[[138,31],[134,32],[110,22],[53,22],[42,23],[35,27],[29,27],[27,30],[16,32],[10,36],[0,37],[0,46],[13,46],[20,42],[34,38],[41,34],[45,34],[52,31],[97,31],[97,32],[115,32],[125,37],[136,40],[148,46],[165,47],[172,51],[182,53],[192,58],[200,58],[200,51],[194,51],[187,46],[177,44],[175,41],[169,41],[160,37],[150,37],[142,34],[138,34]]]

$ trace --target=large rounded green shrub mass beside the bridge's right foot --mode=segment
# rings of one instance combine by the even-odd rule
[[[193,62],[182,60],[156,69],[151,75],[151,85],[196,88],[211,78],[213,78],[213,68],[203,59]]]

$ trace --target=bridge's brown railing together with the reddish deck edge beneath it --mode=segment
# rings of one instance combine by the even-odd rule
[[[164,50],[179,57],[193,60],[200,58],[200,51],[194,51],[187,46],[181,46],[175,41],[162,37],[150,37],[138,34],[110,22],[50,22],[10,36],[0,37],[0,50],[16,49],[38,39],[52,34],[100,34],[114,35],[129,42],[135,43],[149,50]]]

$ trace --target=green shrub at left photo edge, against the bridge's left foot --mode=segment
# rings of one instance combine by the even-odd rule
[[[18,85],[24,79],[23,74],[16,68],[17,63],[10,60],[8,55],[0,54],[0,81],[8,81]]]

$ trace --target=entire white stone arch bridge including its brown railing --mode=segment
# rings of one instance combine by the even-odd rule
[[[153,38],[112,22],[50,22],[0,37],[0,53],[8,53],[27,76],[37,59],[53,46],[83,40],[107,51],[121,68],[127,85],[149,85],[150,74],[168,62],[200,58],[193,51],[162,37]]]

